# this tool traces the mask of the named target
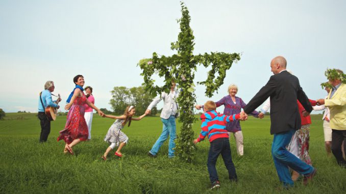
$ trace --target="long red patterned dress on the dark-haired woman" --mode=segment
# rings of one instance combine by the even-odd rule
[[[70,144],[73,140],[87,140],[89,136],[88,126],[84,119],[86,96],[77,97],[68,111],[65,129],[60,131],[58,141],[64,140]]]

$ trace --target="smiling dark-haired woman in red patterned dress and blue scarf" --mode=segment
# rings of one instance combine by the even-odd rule
[[[65,106],[65,110],[69,109],[65,129],[59,132],[60,135],[58,137],[58,141],[64,140],[66,143],[64,153],[69,152],[72,155],[72,147],[88,139],[89,131],[84,119],[85,104],[95,109],[99,115],[104,115],[102,111],[87,100],[84,95],[83,75],[75,76],[73,82],[75,82],[76,88],[71,92],[67,99],[68,103]]]

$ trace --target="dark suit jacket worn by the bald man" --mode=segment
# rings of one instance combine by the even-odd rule
[[[243,109],[252,113],[270,96],[270,134],[301,128],[297,99],[307,112],[312,111],[308,97],[299,85],[299,80],[287,71],[270,77],[267,84],[250,100]]]

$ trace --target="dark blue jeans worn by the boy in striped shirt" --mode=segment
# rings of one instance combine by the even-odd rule
[[[231,180],[237,180],[237,174],[235,172],[234,163],[232,161],[230,141],[228,138],[217,138],[210,143],[210,149],[208,154],[208,172],[211,183],[218,180],[217,172],[215,168],[217,157],[221,154],[224,159],[228,175]]]

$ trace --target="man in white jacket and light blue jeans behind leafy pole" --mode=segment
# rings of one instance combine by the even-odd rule
[[[163,123],[162,133],[158,140],[155,142],[153,148],[149,151],[148,155],[151,157],[156,157],[160,150],[162,144],[167,140],[169,136],[168,144],[168,157],[174,157],[174,149],[176,143],[174,142],[177,138],[176,135],[176,117],[178,115],[178,103],[177,97],[179,95],[178,90],[176,90],[176,83],[172,82],[169,93],[163,92],[160,96],[154,98],[152,103],[147,107],[145,113],[150,114],[151,109],[155,107],[163,99],[163,108],[161,111],[161,121]]]

